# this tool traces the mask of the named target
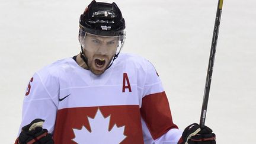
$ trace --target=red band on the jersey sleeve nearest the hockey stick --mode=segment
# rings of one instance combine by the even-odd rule
[[[169,129],[178,129],[172,122],[171,110],[165,92],[143,97],[140,113],[153,139],[158,139]]]

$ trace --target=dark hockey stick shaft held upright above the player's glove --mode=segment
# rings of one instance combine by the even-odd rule
[[[208,69],[207,69],[206,84],[204,87],[203,104],[202,104],[202,108],[201,108],[201,117],[200,117],[200,123],[199,123],[201,128],[204,127],[204,122],[206,119],[206,111],[207,111],[207,104],[208,104],[208,100],[209,100],[210,84],[212,82],[213,64],[214,64],[214,60],[215,60],[217,38],[218,38],[218,34],[219,34],[220,17],[222,14],[222,5],[223,5],[223,0],[219,0],[218,5],[217,5],[216,18],[215,18],[215,27],[213,30],[212,47],[210,50],[210,58],[209,58],[209,64],[208,64]]]

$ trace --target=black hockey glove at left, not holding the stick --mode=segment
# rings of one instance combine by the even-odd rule
[[[18,137],[19,144],[53,144],[52,135],[47,129],[43,129],[44,120],[35,119],[27,126],[24,126]]]

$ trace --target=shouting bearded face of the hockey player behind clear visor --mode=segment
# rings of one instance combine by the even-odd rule
[[[100,75],[107,69],[116,54],[118,37],[96,36],[87,33],[81,44],[84,45],[84,53],[91,72]]]

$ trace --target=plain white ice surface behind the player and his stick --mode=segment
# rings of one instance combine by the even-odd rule
[[[14,143],[33,73],[79,53],[89,2],[0,0],[0,143]],[[123,52],[155,65],[180,129],[199,123],[217,0],[116,3],[126,20]],[[256,1],[224,0],[206,116],[218,144],[255,143],[255,34]]]

